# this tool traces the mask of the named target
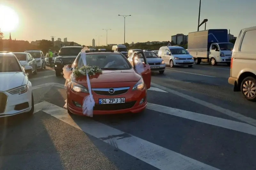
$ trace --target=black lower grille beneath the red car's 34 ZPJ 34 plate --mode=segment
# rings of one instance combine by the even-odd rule
[[[127,103],[117,103],[117,104],[95,104],[93,110],[101,110],[101,111],[108,111],[108,110],[122,110],[128,109],[135,105],[136,101],[127,102]]]

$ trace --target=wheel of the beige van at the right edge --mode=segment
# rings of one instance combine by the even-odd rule
[[[255,78],[253,77],[244,78],[240,88],[245,99],[249,101],[256,101],[256,79]],[[254,94],[252,92],[254,92]]]

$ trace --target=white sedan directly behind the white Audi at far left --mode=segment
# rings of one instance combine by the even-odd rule
[[[14,52],[12,54],[17,57],[22,67],[25,68],[26,66],[31,66],[31,69],[26,70],[29,77],[32,75],[32,73],[37,74],[36,60],[30,53]]]

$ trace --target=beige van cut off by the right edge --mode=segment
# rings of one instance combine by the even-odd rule
[[[250,101],[256,101],[256,26],[239,33],[232,51],[228,83]]]

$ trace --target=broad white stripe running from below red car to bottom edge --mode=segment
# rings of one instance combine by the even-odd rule
[[[96,122],[90,118],[83,118],[75,121],[71,118],[66,109],[46,101],[36,104],[35,110],[42,110],[43,112],[52,115],[53,117],[66,122],[151,166],[155,166],[160,170],[218,170],[215,167],[206,165],[195,159],[191,159],[180,153],[153,144],[139,137],[132,136],[100,122]]]

